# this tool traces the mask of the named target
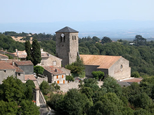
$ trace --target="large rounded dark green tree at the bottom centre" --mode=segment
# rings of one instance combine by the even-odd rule
[[[83,115],[87,110],[86,105],[91,105],[86,95],[77,89],[70,89],[56,110],[63,115]]]

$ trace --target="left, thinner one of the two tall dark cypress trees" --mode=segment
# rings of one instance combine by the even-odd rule
[[[26,53],[27,53],[27,57],[26,57],[26,60],[31,60],[33,62],[33,58],[32,58],[32,52],[31,52],[31,44],[28,41],[25,42],[25,50],[26,50]]]

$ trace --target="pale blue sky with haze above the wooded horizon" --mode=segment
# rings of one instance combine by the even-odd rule
[[[154,21],[154,0],[0,1],[0,31],[46,32],[50,28],[45,26],[54,26],[51,31],[56,31],[65,25],[81,31],[101,31],[100,25],[104,23],[105,27],[112,28],[111,22],[124,22],[119,23],[122,29],[130,25],[128,21],[134,21],[132,25],[135,22],[150,22],[151,25]]]

